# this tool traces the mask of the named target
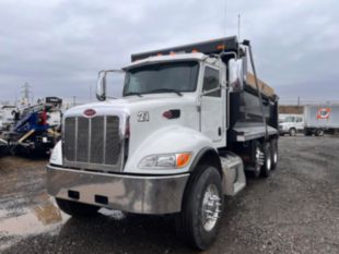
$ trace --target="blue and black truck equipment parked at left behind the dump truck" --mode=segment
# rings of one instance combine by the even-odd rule
[[[12,155],[49,154],[57,143],[61,128],[62,100],[46,97],[22,111],[14,112],[14,126],[2,135]]]

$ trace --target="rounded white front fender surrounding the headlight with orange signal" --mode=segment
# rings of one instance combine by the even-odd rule
[[[125,172],[147,173],[147,174],[173,174],[185,173],[190,171],[190,165],[195,161],[195,157],[200,150],[210,147],[213,148],[211,141],[202,133],[179,125],[163,128],[144,142],[142,142],[133,154],[129,155],[125,166]],[[172,154],[172,153],[192,153],[189,164],[180,169],[140,169],[140,161],[150,155]]]

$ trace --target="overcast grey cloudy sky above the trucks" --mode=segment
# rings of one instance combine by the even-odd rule
[[[89,99],[102,69],[130,53],[237,34],[281,98],[339,99],[335,0],[0,0],[0,99]],[[117,84],[116,90],[120,89]],[[94,96],[92,96],[94,98]]]

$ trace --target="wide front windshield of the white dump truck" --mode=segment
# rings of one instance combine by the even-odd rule
[[[127,71],[124,96],[129,94],[151,94],[194,92],[197,87],[199,63],[196,61],[156,63]]]

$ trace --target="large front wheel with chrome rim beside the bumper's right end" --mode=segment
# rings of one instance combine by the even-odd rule
[[[177,232],[189,245],[208,249],[217,238],[223,208],[221,176],[214,167],[200,166],[185,191]]]

